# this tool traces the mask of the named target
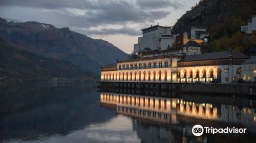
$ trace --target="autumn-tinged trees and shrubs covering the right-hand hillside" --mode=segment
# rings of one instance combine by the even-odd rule
[[[204,0],[199,5],[205,5],[208,1]],[[224,19],[224,22],[218,24],[213,22],[212,25],[208,26],[212,34],[212,43],[204,44],[204,47],[212,47],[209,48],[208,52],[227,51],[229,47],[232,47],[234,50],[246,55],[255,55],[255,35],[246,35],[240,31],[241,26],[247,25],[247,20],[256,14],[255,8],[256,2],[253,0],[232,1],[223,5],[221,9],[214,8],[215,11],[212,11],[212,13],[222,15],[227,12],[233,12],[233,16]],[[215,20],[215,18],[212,19],[212,21]]]

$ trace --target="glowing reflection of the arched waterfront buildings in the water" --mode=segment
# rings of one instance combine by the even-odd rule
[[[200,124],[209,127],[245,127],[256,132],[255,108],[241,105],[216,105],[192,102],[181,98],[137,96],[100,92],[102,106],[116,109],[117,114],[131,116],[133,129],[142,142],[175,141],[209,142],[207,136],[195,137],[191,128]],[[230,124],[231,123],[231,124]],[[147,126],[147,125],[156,126]],[[161,128],[157,128],[157,127]],[[162,128],[163,127],[163,128]]]

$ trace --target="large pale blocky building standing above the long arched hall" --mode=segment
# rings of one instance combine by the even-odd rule
[[[142,30],[143,36],[134,44],[134,53],[139,53],[145,48],[152,51],[170,49],[175,43],[175,35],[172,35],[171,30],[171,27],[158,25]]]

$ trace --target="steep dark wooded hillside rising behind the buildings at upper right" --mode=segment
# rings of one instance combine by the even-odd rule
[[[202,52],[227,51],[229,47],[248,56],[256,55],[256,34],[241,32],[241,26],[256,15],[255,0],[201,0],[176,22],[174,34],[188,32],[192,26],[206,26],[209,43]]]

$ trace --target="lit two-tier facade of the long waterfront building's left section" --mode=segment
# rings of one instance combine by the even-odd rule
[[[172,82],[180,58],[166,57],[130,60],[117,63],[117,70],[101,71],[101,81],[115,82]]]

